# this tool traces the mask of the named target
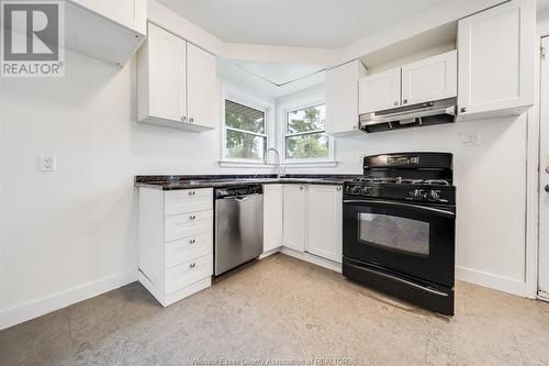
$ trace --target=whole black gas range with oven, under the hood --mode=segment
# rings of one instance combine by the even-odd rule
[[[343,274],[453,314],[456,187],[449,153],[367,156],[344,184]]]

